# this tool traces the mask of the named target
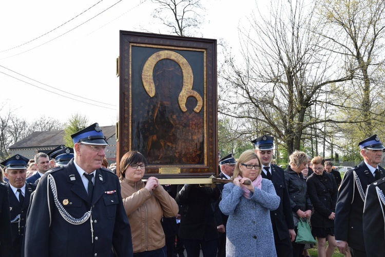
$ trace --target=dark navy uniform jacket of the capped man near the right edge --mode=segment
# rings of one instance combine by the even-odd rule
[[[378,166],[380,177],[385,170]],[[358,180],[354,179],[356,172]],[[335,224],[336,240],[347,241],[353,249],[365,251],[362,232],[362,212],[365,192],[368,185],[375,181],[373,173],[362,161],[358,166],[348,170],[343,176],[337,196]],[[368,255],[370,256],[370,255]]]

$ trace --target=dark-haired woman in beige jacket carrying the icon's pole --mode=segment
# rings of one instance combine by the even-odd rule
[[[146,158],[137,151],[123,155],[119,170],[123,205],[131,226],[134,256],[166,256],[161,219],[178,214],[178,205],[156,177],[142,181]]]

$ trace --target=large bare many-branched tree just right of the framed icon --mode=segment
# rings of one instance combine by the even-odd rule
[[[227,54],[223,71],[221,87],[229,93],[219,111],[258,121],[252,132],[275,135],[288,154],[300,149],[306,129],[344,122],[309,111],[325,102],[331,85],[353,78],[349,71],[335,69],[337,55],[326,51],[322,36],[312,32],[318,26],[314,10],[301,0],[273,1],[267,15],[253,15],[251,28],[241,30],[244,63]]]

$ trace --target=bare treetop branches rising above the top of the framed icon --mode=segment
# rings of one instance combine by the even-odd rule
[[[153,17],[166,25],[171,33],[179,36],[192,36],[203,23],[204,10],[200,0],[151,0],[159,8],[153,12]]]

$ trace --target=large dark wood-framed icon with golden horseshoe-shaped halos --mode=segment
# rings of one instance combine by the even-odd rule
[[[217,175],[216,43],[120,31],[117,162],[136,150],[145,176]]]

